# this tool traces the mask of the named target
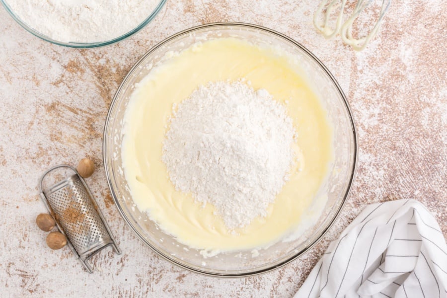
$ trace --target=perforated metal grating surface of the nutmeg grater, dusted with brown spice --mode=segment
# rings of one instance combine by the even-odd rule
[[[112,241],[77,175],[51,189],[46,197],[79,255]]]

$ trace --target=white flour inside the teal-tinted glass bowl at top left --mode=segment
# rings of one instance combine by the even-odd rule
[[[141,24],[159,0],[6,0],[25,24],[61,42],[112,40]]]

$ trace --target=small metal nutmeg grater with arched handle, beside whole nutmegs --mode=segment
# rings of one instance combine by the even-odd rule
[[[43,189],[44,178],[58,168],[68,168],[74,174]],[[87,260],[103,248],[111,245],[121,254],[87,184],[72,166],[61,164],[46,171],[40,178],[39,191],[59,231],[67,237],[69,247],[88,272],[93,270]]]

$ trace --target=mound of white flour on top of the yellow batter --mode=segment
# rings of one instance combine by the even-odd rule
[[[294,164],[295,137],[267,90],[210,82],[173,107],[162,161],[177,190],[213,204],[233,230],[267,215]]]

